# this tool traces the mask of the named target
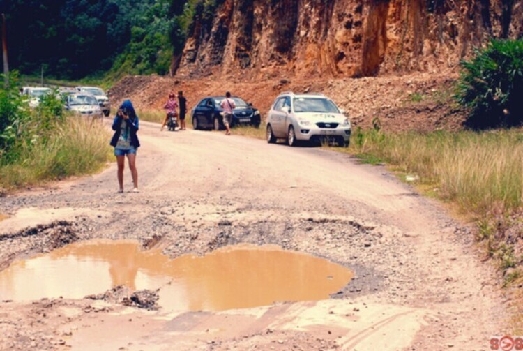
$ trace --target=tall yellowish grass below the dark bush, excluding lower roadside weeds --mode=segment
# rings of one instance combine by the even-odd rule
[[[418,175],[467,213],[483,216],[500,204],[507,210],[522,205],[520,130],[428,134],[372,130],[358,131],[352,140],[362,158],[384,160],[401,172]]]

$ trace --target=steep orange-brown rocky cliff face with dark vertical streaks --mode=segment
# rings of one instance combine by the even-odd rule
[[[523,36],[523,0],[218,0],[198,12],[177,74],[361,77],[455,68]]]

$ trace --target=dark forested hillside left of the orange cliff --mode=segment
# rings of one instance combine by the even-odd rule
[[[165,74],[196,1],[1,0],[10,67],[24,75]]]

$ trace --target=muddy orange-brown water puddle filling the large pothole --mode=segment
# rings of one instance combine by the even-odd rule
[[[274,246],[230,246],[174,260],[136,241],[86,241],[14,262],[0,272],[0,300],[82,299],[116,285],[160,288],[164,311],[221,311],[276,301],[328,299],[349,269]]]

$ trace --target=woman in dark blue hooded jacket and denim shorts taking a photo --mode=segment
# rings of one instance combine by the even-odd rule
[[[114,156],[118,164],[118,183],[119,193],[123,193],[123,168],[126,164],[126,156],[132,176],[133,193],[138,193],[138,171],[136,170],[136,151],[140,146],[137,131],[139,129],[139,119],[130,100],[125,100],[121,104],[116,117],[112,123],[114,135],[111,139],[111,146],[114,147]]]

